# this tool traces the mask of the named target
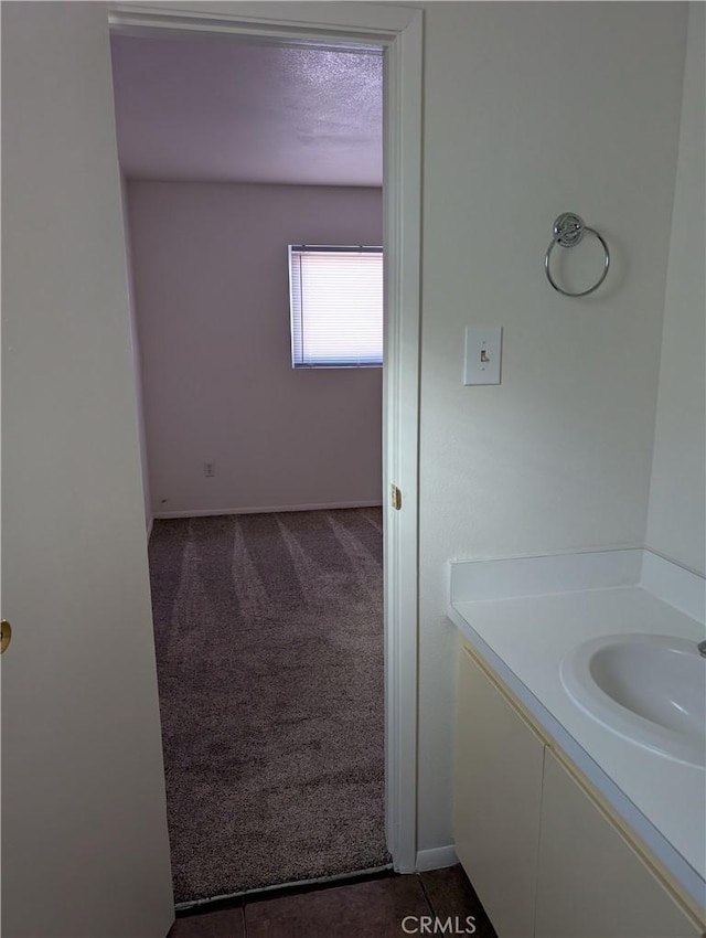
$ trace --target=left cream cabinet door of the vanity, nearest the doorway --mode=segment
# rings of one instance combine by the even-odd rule
[[[531,938],[544,742],[466,649],[459,658],[456,852],[500,938]]]

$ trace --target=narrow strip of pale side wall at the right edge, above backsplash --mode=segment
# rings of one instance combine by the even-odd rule
[[[648,546],[704,573],[706,386],[704,4],[689,4]]]

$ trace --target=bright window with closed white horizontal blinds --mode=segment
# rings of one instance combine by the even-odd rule
[[[292,367],[383,363],[383,249],[289,245]]]

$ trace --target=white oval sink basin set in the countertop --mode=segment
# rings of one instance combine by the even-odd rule
[[[605,636],[575,649],[559,673],[569,696],[611,732],[706,767],[706,659],[696,641]]]

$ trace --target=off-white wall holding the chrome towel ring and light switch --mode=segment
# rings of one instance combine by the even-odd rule
[[[424,6],[422,850],[453,839],[449,558],[644,543],[686,26],[678,3]],[[543,270],[568,210],[612,255],[585,299]],[[472,323],[504,327],[501,386],[461,384]]]

